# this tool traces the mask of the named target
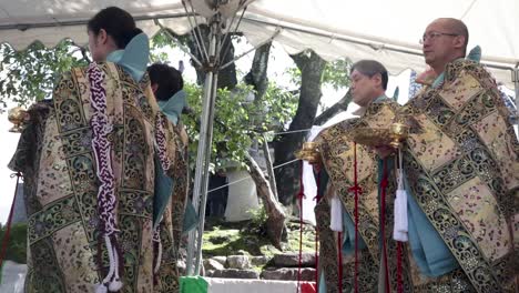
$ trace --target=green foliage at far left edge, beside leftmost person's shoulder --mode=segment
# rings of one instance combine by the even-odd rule
[[[7,101],[27,105],[50,98],[60,72],[88,64],[82,54],[85,51],[81,50],[71,40],[51,49],[34,42],[23,51],[0,44],[0,109],[7,107]]]

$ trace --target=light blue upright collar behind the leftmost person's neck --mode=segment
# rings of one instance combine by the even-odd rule
[[[150,60],[150,40],[145,33],[139,33],[126,44],[124,50],[116,50],[106,57],[106,61],[121,65],[135,81],[141,81]]]

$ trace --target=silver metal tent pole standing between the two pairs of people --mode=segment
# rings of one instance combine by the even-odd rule
[[[207,201],[207,183],[208,183],[208,169],[211,162],[211,150],[213,140],[213,119],[214,119],[214,105],[216,100],[217,89],[217,69],[215,68],[215,52],[218,46],[218,18],[213,19],[210,33],[210,60],[207,63],[207,70],[204,82],[204,94],[202,98],[202,121],[200,131],[199,149],[196,153],[196,169],[195,180],[193,188],[193,205],[199,211],[199,228],[196,233],[193,231],[190,233],[189,247],[187,247],[187,274],[199,275],[200,274],[200,262],[202,253],[202,235],[204,233],[205,222],[205,203]],[[195,240],[196,238],[196,240]],[[194,253],[196,247],[196,254]],[[196,257],[193,271],[193,257]]]

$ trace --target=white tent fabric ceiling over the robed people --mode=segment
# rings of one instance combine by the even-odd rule
[[[195,6],[207,0],[192,0]],[[235,2],[235,0],[231,0]],[[257,44],[271,38],[288,53],[313,49],[326,60],[376,59],[391,73],[424,69],[418,39],[438,17],[464,20],[469,47],[482,48],[482,62],[512,88],[511,69],[519,64],[519,1],[517,0],[256,0],[250,2],[240,30]],[[0,41],[24,49],[35,40],[47,47],[64,38],[85,44],[85,26],[100,9],[118,6],[138,19],[147,34],[159,31],[153,21],[179,34],[190,31],[180,0],[0,0]],[[233,8],[233,6],[230,6]],[[234,6],[235,7],[235,6]]]

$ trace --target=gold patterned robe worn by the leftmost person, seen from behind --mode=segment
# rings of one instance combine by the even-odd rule
[[[116,250],[122,255],[120,292],[177,290],[174,219],[161,224],[161,266],[154,274],[152,241],[154,142],[159,115],[147,75],[138,83],[121,67],[99,63],[112,123],[111,168],[115,181]],[[100,241],[96,176],[90,118],[88,68],[64,73],[53,107],[34,119],[20,138],[10,168],[24,176],[28,210],[26,292],[94,292],[106,274],[108,253]],[[166,132],[167,141],[174,140]],[[174,146],[166,156],[174,163]],[[173,169],[167,173],[172,173]],[[181,216],[182,218],[182,216]]]

